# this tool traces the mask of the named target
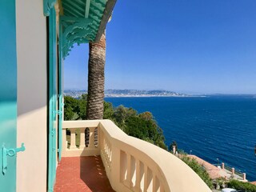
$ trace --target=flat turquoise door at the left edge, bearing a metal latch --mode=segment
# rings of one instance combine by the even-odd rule
[[[16,191],[17,59],[15,0],[0,1],[0,191]]]

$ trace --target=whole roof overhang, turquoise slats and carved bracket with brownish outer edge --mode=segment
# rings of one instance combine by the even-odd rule
[[[98,42],[117,0],[58,0],[61,7],[59,42],[65,58],[75,43]],[[56,0],[44,0],[44,14]]]

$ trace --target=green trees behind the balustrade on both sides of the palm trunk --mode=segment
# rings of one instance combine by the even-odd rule
[[[66,96],[64,98],[64,119],[85,119],[86,98],[86,94],[83,94],[78,99]],[[138,114],[133,108],[126,108],[125,106],[114,108],[112,103],[104,102],[103,118],[112,120],[126,134],[135,138],[141,138],[166,150],[162,129],[158,126],[150,112]]]

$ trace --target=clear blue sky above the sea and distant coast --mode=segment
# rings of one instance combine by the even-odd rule
[[[255,0],[118,0],[106,89],[256,94],[255,10]],[[74,46],[64,89],[87,89],[87,62],[88,45]]]

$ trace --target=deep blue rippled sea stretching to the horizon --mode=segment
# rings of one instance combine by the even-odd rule
[[[106,98],[114,106],[150,111],[166,137],[187,153],[211,163],[225,162],[256,180],[256,98]]]

